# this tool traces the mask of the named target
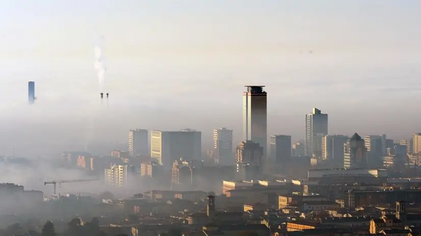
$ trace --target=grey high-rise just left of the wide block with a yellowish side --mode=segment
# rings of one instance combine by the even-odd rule
[[[147,130],[135,129],[128,131],[128,151],[133,157],[149,156]]]

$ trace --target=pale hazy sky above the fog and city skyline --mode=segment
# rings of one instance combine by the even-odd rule
[[[96,106],[103,35],[109,109],[133,119],[121,141],[126,126],[208,136],[228,127],[239,139],[247,84],[267,86],[268,134],[302,138],[318,107],[329,133],[402,138],[421,131],[419,9],[418,0],[3,0],[2,113],[63,120]],[[145,117],[144,106],[173,113]]]

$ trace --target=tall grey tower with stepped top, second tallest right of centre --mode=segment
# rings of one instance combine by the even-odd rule
[[[328,134],[328,117],[321,110],[313,108],[305,116],[304,155],[322,157],[322,138]]]

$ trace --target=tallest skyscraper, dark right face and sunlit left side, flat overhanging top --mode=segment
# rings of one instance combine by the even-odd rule
[[[266,157],[267,146],[267,94],[265,86],[246,86],[243,93],[243,141],[252,140],[263,147]]]

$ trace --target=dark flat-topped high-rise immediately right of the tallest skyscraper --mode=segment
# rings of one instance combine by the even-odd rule
[[[271,135],[271,159],[276,163],[289,163],[291,161],[291,136]]]

